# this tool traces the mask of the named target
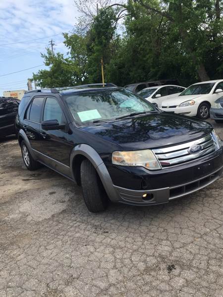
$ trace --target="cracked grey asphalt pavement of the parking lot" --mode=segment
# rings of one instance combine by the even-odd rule
[[[223,297],[223,177],[92,214],[73,182],[28,171],[16,139],[0,141],[0,297],[13,296]]]

